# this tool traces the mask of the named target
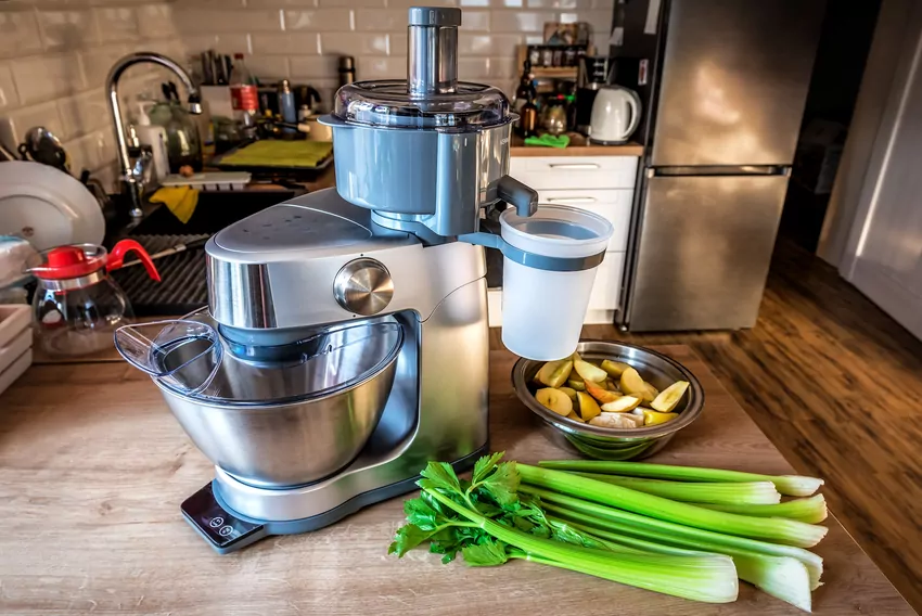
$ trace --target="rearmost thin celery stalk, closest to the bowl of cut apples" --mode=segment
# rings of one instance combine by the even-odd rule
[[[643,462],[607,462],[598,460],[542,460],[538,465],[558,471],[580,471],[585,473],[605,473],[652,479],[678,479],[680,482],[771,482],[778,491],[789,497],[809,497],[823,485],[822,479],[801,475],[759,475],[723,471],[721,469],[701,469],[697,466],[671,466],[668,464],[648,464]]]

